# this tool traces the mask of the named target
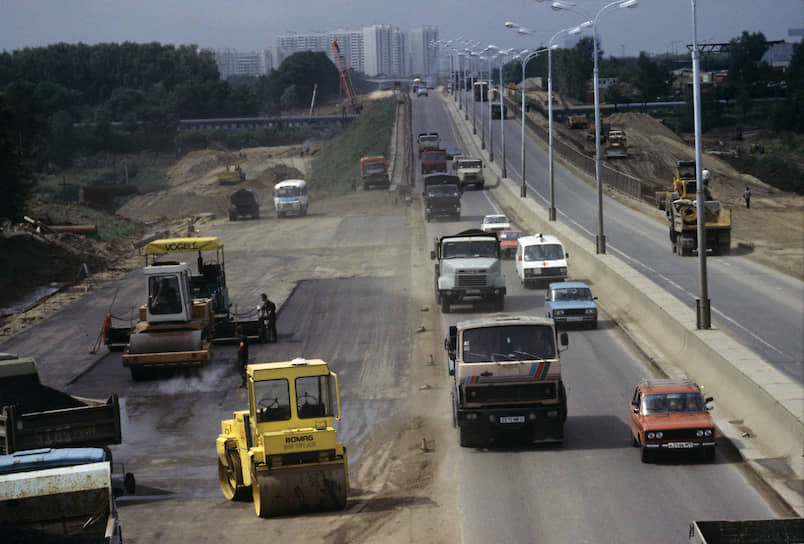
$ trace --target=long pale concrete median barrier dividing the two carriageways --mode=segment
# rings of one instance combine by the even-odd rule
[[[466,127],[455,102],[444,98],[464,141],[482,156],[479,139]],[[487,172],[501,179],[498,163]],[[490,172],[489,172],[490,173]],[[532,199],[519,197],[519,186],[501,180],[489,192],[510,209],[523,230],[559,236],[570,254],[574,276],[589,278],[600,305],[669,376],[687,376],[715,397],[718,429],[774,491],[804,514],[804,388],[756,356],[727,333],[696,329],[695,315],[660,285],[610,254],[598,255],[592,241],[560,222]],[[578,274],[580,272],[580,274]],[[630,387],[631,385],[629,385]]]

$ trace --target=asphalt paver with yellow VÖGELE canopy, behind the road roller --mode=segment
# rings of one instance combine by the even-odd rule
[[[169,351],[176,351],[176,348],[184,348],[190,353],[185,355],[171,355],[163,358],[171,361],[177,358],[187,358],[187,365],[196,366],[203,364],[208,358],[208,353],[204,351],[203,345],[208,339],[213,343],[234,342],[236,340],[237,327],[242,327],[243,333],[249,340],[255,342],[266,342],[269,340],[271,330],[270,316],[260,315],[255,306],[243,312],[238,312],[237,308],[229,299],[229,290],[226,286],[226,263],[223,249],[223,241],[217,236],[199,238],[164,238],[148,243],[143,249],[145,254],[145,275],[148,282],[148,305],[139,308],[139,321],[135,325],[114,327],[112,316],[107,314],[103,325],[104,341],[110,350],[117,349],[123,344],[125,349],[129,346],[132,333],[143,332],[147,328],[148,320],[151,319],[152,327],[146,336],[138,337],[136,342],[145,338],[158,337],[157,346],[143,349],[161,349],[159,346],[170,347]],[[176,255],[182,253],[197,253],[197,272],[193,272],[190,265],[173,260]],[[186,276],[187,285],[184,287],[184,277]],[[158,278],[158,279],[155,279]],[[191,301],[186,302],[187,311],[176,306],[179,312],[168,313],[164,316],[156,315],[154,311],[165,311],[166,308],[152,308],[154,298],[158,293],[159,286],[155,282],[162,282],[167,279],[168,283],[174,285],[177,293],[182,297],[183,289],[187,290]],[[207,306],[210,308],[207,309]],[[162,325],[157,325],[162,323]],[[173,332],[167,333],[168,330]],[[184,332],[182,332],[184,331]],[[191,331],[197,331],[192,332]],[[186,337],[184,340],[180,337]],[[170,338],[170,341],[164,342]],[[273,339],[275,340],[275,339]],[[139,347],[135,349],[141,349]],[[179,349],[179,351],[182,351]],[[199,352],[199,353],[195,353]],[[137,352],[130,352],[134,354]],[[142,353],[150,353],[144,351]],[[201,359],[197,359],[201,357]],[[131,358],[124,359],[132,361]],[[125,364],[125,363],[124,363]],[[176,366],[171,363],[169,366]],[[181,365],[179,365],[181,366]]]

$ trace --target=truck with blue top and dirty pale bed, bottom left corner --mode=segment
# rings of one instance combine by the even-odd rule
[[[3,542],[122,542],[111,462],[100,448],[0,455]]]

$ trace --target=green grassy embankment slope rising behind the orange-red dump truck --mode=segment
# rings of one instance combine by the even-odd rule
[[[366,105],[349,127],[322,149],[313,161],[311,190],[339,196],[360,179],[360,158],[388,157],[394,127],[396,100],[387,98]]]

